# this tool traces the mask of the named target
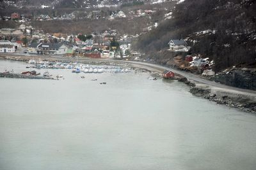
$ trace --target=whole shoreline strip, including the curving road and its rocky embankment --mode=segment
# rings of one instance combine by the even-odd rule
[[[26,62],[29,59],[41,59],[49,61],[61,61],[61,62],[81,62],[86,64],[126,64],[131,65],[139,69],[145,69],[150,73],[161,74],[165,69],[170,69],[164,66],[157,66],[156,64],[148,64],[144,62],[124,61],[124,60],[109,60],[109,59],[87,59],[87,58],[70,58],[70,57],[48,57],[48,56],[22,56],[22,55],[0,55],[0,59],[17,60]],[[189,87],[191,94],[197,97],[202,97],[213,101],[216,104],[228,106],[229,108],[237,108],[247,113],[256,113],[256,91],[237,89],[234,87],[228,87],[212,81],[209,83],[208,80],[196,81],[196,75],[194,80],[191,74],[184,76],[186,73],[181,71],[175,71],[170,69],[177,75],[178,81],[186,83]],[[182,74],[180,74],[182,73]],[[207,83],[204,83],[207,82]],[[214,85],[216,84],[216,85]]]

